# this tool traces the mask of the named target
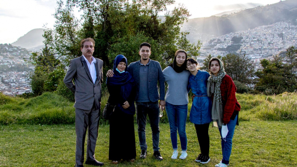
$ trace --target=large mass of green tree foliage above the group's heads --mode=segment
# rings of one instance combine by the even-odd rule
[[[139,60],[139,45],[152,44],[152,59],[172,61],[177,49],[197,56],[200,41],[190,44],[188,32],[180,32],[180,25],[190,16],[183,6],[168,11],[167,5],[174,0],[61,0],[54,17],[53,29],[45,32],[45,43],[58,53],[67,64],[70,58],[81,55],[79,41],[82,38],[95,39],[94,57],[104,61],[105,68],[112,66],[117,54],[125,55],[129,62]],[[80,19],[73,15],[77,7],[83,12]],[[166,12],[159,17],[160,12]],[[79,23],[82,22],[81,25]]]

